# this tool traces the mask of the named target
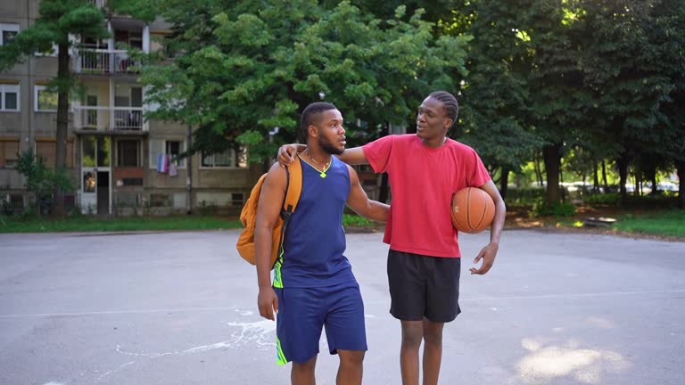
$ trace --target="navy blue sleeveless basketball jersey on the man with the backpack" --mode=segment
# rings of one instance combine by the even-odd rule
[[[302,193],[274,266],[274,287],[323,287],[354,281],[343,255],[342,212],[350,194],[347,165],[333,157],[326,176],[302,161]]]

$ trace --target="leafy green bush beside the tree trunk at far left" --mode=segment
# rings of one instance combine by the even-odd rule
[[[26,188],[36,194],[37,204],[52,199],[55,190],[62,193],[73,190],[65,168],[47,168],[45,160],[37,158],[31,150],[19,154],[16,169],[26,178]]]

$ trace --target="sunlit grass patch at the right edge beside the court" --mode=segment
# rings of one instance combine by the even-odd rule
[[[685,238],[685,210],[668,210],[636,217],[621,217],[614,228],[628,233],[650,233]]]

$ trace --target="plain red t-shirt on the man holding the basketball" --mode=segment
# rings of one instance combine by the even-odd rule
[[[383,242],[396,251],[461,257],[452,194],[491,179],[475,150],[449,138],[431,148],[415,134],[384,136],[362,150],[376,173],[388,173],[392,203]]]

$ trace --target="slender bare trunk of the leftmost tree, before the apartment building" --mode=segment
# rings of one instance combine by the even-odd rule
[[[57,129],[55,132],[54,170],[61,172],[67,165],[67,132],[69,129],[69,89],[70,80],[69,44],[60,43],[57,56],[57,79],[60,87],[57,93]],[[54,189],[54,217],[64,217],[64,192]]]

